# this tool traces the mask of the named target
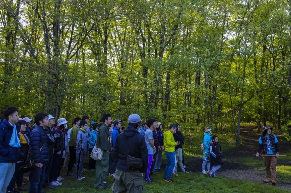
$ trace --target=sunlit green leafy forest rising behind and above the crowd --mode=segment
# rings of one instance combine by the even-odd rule
[[[291,125],[291,0],[2,0],[0,110]],[[69,125],[70,126],[70,125]]]

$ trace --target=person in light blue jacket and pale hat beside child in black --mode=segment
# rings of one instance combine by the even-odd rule
[[[203,145],[204,145],[204,150],[203,150],[203,163],[202,163],[202,174],[209,174],[210,171],[210,153],[209,153],[209,148],[210,148],[210,143],[211,143],[211,135],[212,135],[212,128],[211,127],[206,127],[205,132],[204,132],[204,138],[203,138]]]

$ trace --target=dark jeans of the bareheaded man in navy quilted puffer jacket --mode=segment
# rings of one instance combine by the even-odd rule
[[[46,166],[42,168],[33,166],[29,175],[30,186],[29,193],[40,193],[41,186],[45,183],[46,179]]]

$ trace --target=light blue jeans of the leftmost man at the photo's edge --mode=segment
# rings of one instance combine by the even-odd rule
[[[15,163],[0,163],[0,193],[6,193],[6,188],[13,177]]]

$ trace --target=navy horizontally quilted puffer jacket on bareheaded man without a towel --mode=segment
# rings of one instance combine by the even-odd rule
[[[42,149],[40,150],[40,148]],[[44,128],[36,126],[31,133],[28,159],[46,165],[49,161],[48,143]]]

